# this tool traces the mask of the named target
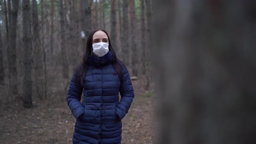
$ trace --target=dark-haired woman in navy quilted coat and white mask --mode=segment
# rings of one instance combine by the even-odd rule
[[[76,118],[73,144],[121,144],[121,120],[133,98],[128,70],[116,57],[108,33],[93,30],[69,85],[67,102]]]

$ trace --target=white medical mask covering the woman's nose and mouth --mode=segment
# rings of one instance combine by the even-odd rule
[[[108,43],[94,43],[92,44],[93,53],[96,56],[104,56],[108,53]]]

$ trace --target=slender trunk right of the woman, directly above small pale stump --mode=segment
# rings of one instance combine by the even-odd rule
[[[136,31],[136,26],[135,26],[135,3],[134,0],[130,0],[130,29],[131,29],[131,69],[132,69],[132,75],[133,76],[138,76],[138,49],[137,49],[137,44],[136,44],[136,38],[135,38],[135,31]]]

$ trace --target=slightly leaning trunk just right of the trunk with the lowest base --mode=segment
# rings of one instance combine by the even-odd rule
[[[43,72],[43,49],[39,43],[39,22],[36,0],[32,1],[32,16],[33,16],[33,62],[35,69],[35,86],[36,96],[43,98],[44,96],[44,72]]]

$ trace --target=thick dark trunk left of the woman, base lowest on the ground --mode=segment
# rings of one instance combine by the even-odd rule
[[[24,79],[23,79],[23,106],[31,108],[32,104],[32,80],[31,80],[31,61],[32,43],[30,30],[30,0],[22,1],[23,10],[23,49],[24,49]]]

